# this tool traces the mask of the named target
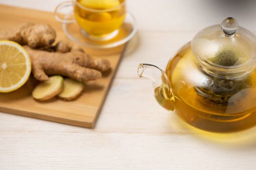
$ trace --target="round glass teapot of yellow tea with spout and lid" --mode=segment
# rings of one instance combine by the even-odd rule
[[[233,17],[197,33],[166,71],[138,66],[151,79],[156,101],[187,123],[211,132],[256,125],[256,35]]]

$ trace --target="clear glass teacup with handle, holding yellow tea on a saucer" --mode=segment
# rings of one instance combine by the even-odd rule
[[[118,34],[126,16],[125,0],[71,0],[56,7],[55,18],[62,23],[77,22],[90,39],[107,40]],[[73,6],[74,19],[62,19],[59,11]]]

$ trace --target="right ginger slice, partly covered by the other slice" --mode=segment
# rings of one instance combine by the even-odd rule
[[[65,101],[74,100],[81,94],[84,86],[85,85],[82,82],[70,78],[65,78],[63,91],[58,94],[57,97]]]

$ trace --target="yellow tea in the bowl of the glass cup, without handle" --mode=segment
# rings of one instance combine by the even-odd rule
[[[124,0],[77,0],[74,14],[77,23],[87,34],[105,36],[123,23],[126,8]]]

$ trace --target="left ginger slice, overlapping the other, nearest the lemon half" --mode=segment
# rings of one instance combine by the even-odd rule
[[[34,99],[39,101],[46,101],[53,98],[63,90],[63,77],[51,76],[49,80],[40,82],[32,92]]]

